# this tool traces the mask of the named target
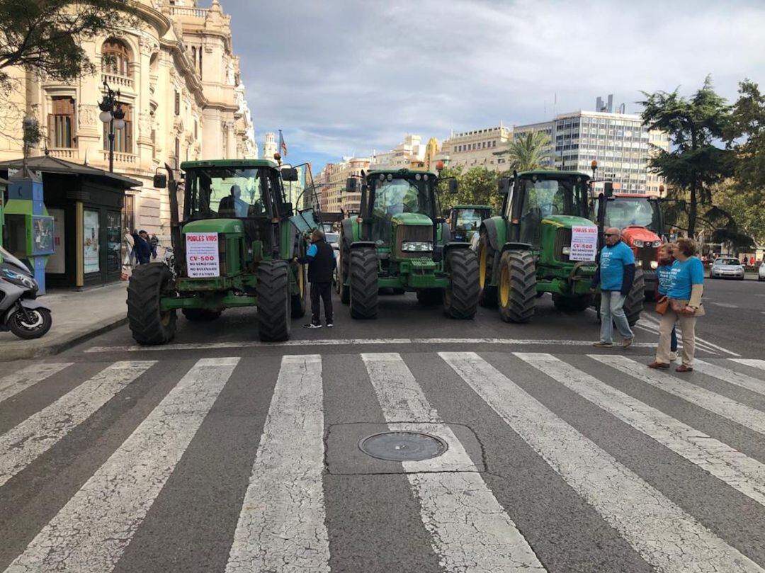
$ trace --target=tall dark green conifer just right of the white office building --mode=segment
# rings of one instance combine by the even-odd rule
[[[711,77],[691,98],[671,93],[646,93],[643,124],[669,134],[671,151],[654,148],[649,168],[669,183],[669,198],[688,218],[688,236],[694,236],[699,206],[711,207],[712,186],[733,174],[731,151],[719,148],[730,119],[725,99],[712,88]]]

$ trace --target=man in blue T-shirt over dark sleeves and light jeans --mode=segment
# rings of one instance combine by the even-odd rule
[[[616,323],[623,339],[622,347],[627,348],[635,340],[627,315],[624,314],[624,301],[635,280],[635,256],[632,249],[622,243],[620,231],[616,227],[608,227],[604,238],[605,245],[598,253],[597,271],[591,283],[591,291],[598,284],[601,285],[601,340],[593,346],[613,347]]]

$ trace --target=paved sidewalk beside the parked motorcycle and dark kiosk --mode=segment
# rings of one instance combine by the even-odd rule
[[[86,291],[53,291],[38,300],[50,308],[53,326],[42,338],[21,340],[0,332],[0,362],[57,354],[127,324],[127,281]]]

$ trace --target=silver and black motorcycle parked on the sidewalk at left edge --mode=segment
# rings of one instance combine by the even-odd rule
[[[44,336],[53,319],[50,308],[36,301],[37,281],[27,265],[0,246],[0,331],[19,338]]]

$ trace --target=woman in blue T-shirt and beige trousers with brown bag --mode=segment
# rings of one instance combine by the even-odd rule
[[[649,368],[669,368],[672,328],[680,323],[682,329],[682,364],[675,372],[693,370],[696,317],[704,316],[704,265],[695,256],[696,243],[692,239],[677,239],[675,262],[672,263],[672,285],[669,288],[669,308],[659,323],[659,347],[656,359]]]

